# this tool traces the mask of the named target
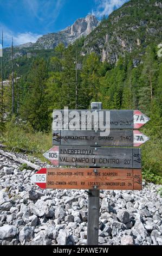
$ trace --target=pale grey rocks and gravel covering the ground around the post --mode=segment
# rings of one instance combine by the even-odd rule
[[[86,245],[87,192],[41,190],[34,173],[0,155],[0,245]],[[162,245],[158,190],[100,191],[99,244]]]

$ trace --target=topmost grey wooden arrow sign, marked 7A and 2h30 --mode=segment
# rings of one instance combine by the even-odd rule
[[[61,114],[59,115],[58,112]],[[107,112],[110,113],[110,120],[107,120]],[[69,129],[72,124],[75,130],[82,130],[84,125],[86,130],[88,130],[87,125],[91,125],[92,129],[96,130],[97,127],[100,128],[99,124],[107,127],[109,125],[110,129],[116,130],[139,129],[150,120],[139,110],[68,110],[67,113],[57,110],[54,111],[53,118],[53,126],[56,127],[54,130]],[[60,129],[61,124],[62,129]]]

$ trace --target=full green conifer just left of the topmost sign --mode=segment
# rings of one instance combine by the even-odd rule
[[[27,77],[27,94],[21,107],[23,120],[29,121],[36,131],[47,131],[49,125],[46,102],[47,65],[36,59]]]

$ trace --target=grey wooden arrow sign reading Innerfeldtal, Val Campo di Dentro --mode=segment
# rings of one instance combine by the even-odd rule
[[[43,156],[54,166],[141,169],[140,149],[54,146]]]

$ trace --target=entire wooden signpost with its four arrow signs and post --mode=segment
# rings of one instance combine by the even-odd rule
[[[110,110],[108,119],[101,106],[101,102],[93,102],[90,111],[62,110],[60,116],[54,112],[54,147],[43,156],[54,166],[76,168],[43,168],[31,177],[42,189],[89,190],[87,245],[98,245],[100,190],[142,190],[141,149],[120,147],[139,147],[149,139],[140,131],[133,131],[150,120],[145,114],[138,110]],[[99,114],[96,123],[92,117],[95,114]],[[78,115],[80,121],[76,119]],[[101,120],[102,125],[109,125],[109,135],[100,129]],[[76,129],[70,130],[70,124]],[[81,130],[81,125],[86,129]]]

